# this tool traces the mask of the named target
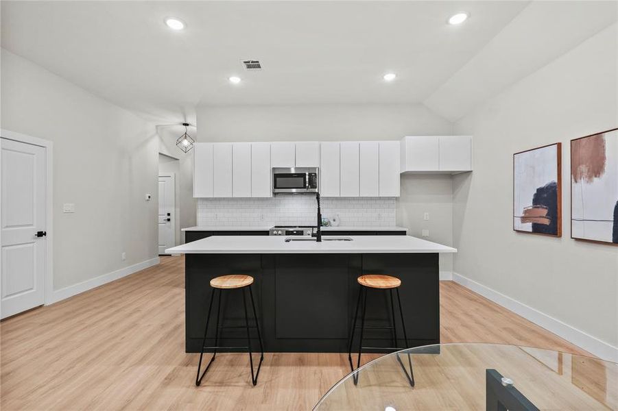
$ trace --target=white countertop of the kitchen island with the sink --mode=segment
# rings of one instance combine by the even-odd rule
[[[211,236],[165,250],[167,254],[456,253],[411,236],[350,236],[352,241],[285,242],[287,236]],[[296,238],[302,238],[298,236]],[[328,237],[326,237],[328,238]],[[331,237],[336,238],[336,237]]]

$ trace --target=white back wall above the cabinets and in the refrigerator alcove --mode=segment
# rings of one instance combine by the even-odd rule
[[[253,105],[198,107],[199,141],[400,140],[406,135],[451,134],[452,125],[423,105]],[[451,177],[402,176],[398,225],[413,236],[451,245]],[[432,184],[432,182],[437,185]],[[423,221],[429,212],[430,221]],[[451,271],[452,256],[440,256]]]

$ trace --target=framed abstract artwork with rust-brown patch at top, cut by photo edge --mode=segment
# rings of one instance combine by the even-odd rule
[[[571,238],[618,245],[618,129],[571,140]]]

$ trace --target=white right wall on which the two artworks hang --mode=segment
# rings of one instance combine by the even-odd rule
[[[569,140],[618,125],[617,73],[613,25],[455,124],[474,135],[474,173],[453,180],[454,271],[603,356],[618,352],[609,347],[618,347],[618,249],[569,238]],[[562,142],[562,238],[513,232],[512,155],[554,142]]]

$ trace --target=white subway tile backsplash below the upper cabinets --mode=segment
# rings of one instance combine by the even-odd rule
[[[322,198],[322,217],[340,216],[340,225],[388,227],[395,225],[394,197]],[[272,198],[198,199],[198,225],[316,225],[313,195],[276,195]]]

